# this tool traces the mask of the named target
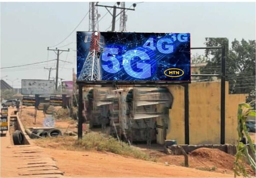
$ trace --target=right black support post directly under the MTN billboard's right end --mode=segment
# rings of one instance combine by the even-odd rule
[[[188,95],[188,84],[184,84],[184,103],[185,103],[185,144],[189,144],[189,95]]]

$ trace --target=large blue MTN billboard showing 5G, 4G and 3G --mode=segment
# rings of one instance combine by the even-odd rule
[[[91,74],[101,81],[190,81],[190,34],[77,32],[77,80]]]

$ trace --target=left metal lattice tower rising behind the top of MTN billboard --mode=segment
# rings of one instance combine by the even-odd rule
[[[98,31],[99,30],[99,17],[98,7],[96,7],[96,2],[89,3],[89,31]]]

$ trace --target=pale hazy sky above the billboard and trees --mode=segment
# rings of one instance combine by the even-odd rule
[[[115,2],[100,2],[114,5]],[[130,7],[132,2],[127,2]],[[56,54],[47,47],[54,46],[68,50],[60,54],[59,77],[72,80],[72,68],[76,72],[76,31],[89,30],[89,15],[78,28],[61,44],[78,25],[89,10],[88,2],[8,2],[0,4],[0,66],[1,68],[49,61],[19,68],[1,69],[1,79],[14,88],[21,88],[22,79],[48,79],[46,68],[56,67]],[[98,7],[104,16],[107,10]],[[135,11],[127,11],[126,30],[128,32],[178,32],[190,33],[191,47],[203,47],[206,37],[226,37],[255,40],[255,3],[138,3]],[[99,22],[99,31],[110,30],[111,15],[107,14]],[[119,21],[115,26],[119,30]],[[193,50],[191,54],[203,54]],[[63,62],[66,61],[66,62]],[[70,63],[71,62],[71,63]],[[55,77],[56,70],[51,72]]]

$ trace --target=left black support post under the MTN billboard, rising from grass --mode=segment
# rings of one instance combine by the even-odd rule
[[[78,139],[82,139],[83,131],[82,131],[82,124],[83,124],[83,118],[82,118],[82,101],[83,101],[83,87],[82,85],[78,85]]]

